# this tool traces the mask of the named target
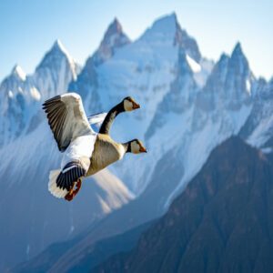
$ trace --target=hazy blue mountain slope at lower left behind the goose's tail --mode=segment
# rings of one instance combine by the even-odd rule
[[[72,238],[134,197],[107,169],[86,179],[71,203],[51,196],[48,175],[60,167],[61,154],[45,122],[3,148],[0,158],[0,268]]]

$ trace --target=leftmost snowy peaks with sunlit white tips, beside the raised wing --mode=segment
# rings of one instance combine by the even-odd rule
[[[34,130],[43,118],[41,103],[66,92],[78,72],[79,66],[59,40],[45,54],[33,75],[26,76],[20,66],[15,66],[0,85],[0,111],[5,117],[0,120],[0,147]]]

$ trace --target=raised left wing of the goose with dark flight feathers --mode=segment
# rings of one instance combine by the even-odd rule
[[[43,104],[48,124],[61,152],[77,136],[93,133],[81,97],[76,93],[55,96]]]

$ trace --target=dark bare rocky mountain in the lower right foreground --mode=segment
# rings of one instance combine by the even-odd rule
[[[231,137],[137,247],[95,272],[272,272],[272,158]]]

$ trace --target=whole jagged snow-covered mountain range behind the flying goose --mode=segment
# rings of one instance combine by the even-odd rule
[[[34,231],[30,236],[35,239],[29,247],[28,238],[22,241],[18,259],[25,258],[27,253],[34,255],[57,238],[67,238],[70,230],[86,227],[88,222],[106,216],[106,212],[126,204],[134,195],[138,199],[131,202],[133,205],[114,213],[109,222],[98,224],[100,238],[158,217],[197,174],[212,149],[231,135],[239,134],[251,145],[266,147],[267,151],[273,145],[273,81],[267,83],[253,76],[240,44],[230,56],[220,56],[216,64],[201,56],[196,40],[181,28],[175,14],[159,18],[133,42],[115,19],[81,72],[78,67],[64,46],[56,41],[34,75],[25,76],[15,66],[0,86],[4,116],[0,120],[0,144],[5,144],[0,157],[6,158],[0,164],[0,175],[5,177],[2,179],[5,204],[12,203],[23,192],[24,200],[30,195],[25,209],[31,207],[31,216],[44,215],[38,224],[26,217],[24,227],[31,223]],[[47,173],[56,167],[59,157],[40,106],[46,98],[67,90],[83,97],[87,115],[105,112],[125,96],[133,96],[141,109],[118,116],[111,135],[120,142],[137,137],[144,141],[149,153],[142,157],[128,155],[126,160],[110,167],[106,181],[116,181],[111,182],[114,187],[94,189],[86,183],[83,199],[76,199],[82,205],[72,204],[68,211],[64,204],[60,208],[64,209],[64,217],[57,219],[57,212],[52,217],[45,204],[51,202],[46,190]],[[17,150],[16,160],[13,149]],[[43,177],[39,183],[37,177]],[[30,193],[28,188],[32,184],[35,187]],[[35,191],[39,194],[35,195]],[[102,191],[105,194],[100,196]],[[96,206],[88,207],[87,213],[83,204],[88,194],[90,199],[95,199]],[[38,198],[43,199],[40,211],[35,207]],[[58,204],[54,202],[54,206]],[[144,206],[146,213],[130,215],[127,223],[130,206],[136,211]],[[50,209],[54,210],[53,205]],[[15,205],[9,213],[15,214]],[[112,228],[117,214],[123,225]],[[6,217],[6,211],[0,211],[0,216]],[[18,218],[18,223],[23,220]],[[56,225],[53,221],[62,221],[56,236],[51,234]],[[7,234],[13,223],[6,222]],[[37,231],[36,225],[43,228]],[[43,238],[43,243],[36,244],[38,238]],[[35,244],[38,247],[34,249]]]

